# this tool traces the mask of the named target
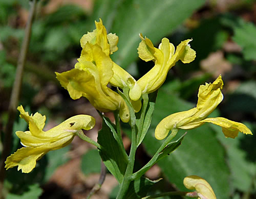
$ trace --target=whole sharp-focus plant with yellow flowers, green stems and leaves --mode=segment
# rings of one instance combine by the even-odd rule
[[[21,115],[27,115],[27,119],[25,119],[29,124],[34,121],[36,124],[34,126],[37,128],[34,130],[30,124],[29,132],[16,133],[26,147],[8,157],[6,161],[7,168],[18,166],[18,169],[22,168],[23,172],[30,172],[35,166],[36,160],[42,155],[50,150],[67,145],[74,135],[78,135],[81,139],[97,146],[105,166],[120,184],[117,195],[117,198],[120,199],[125,198],[128,192],[129,194],[134,194],[135,188],[130,188],[130,186],[135,186],[136,183],[131,184],[132,181],[137,181],[140,186],[142,184],[155,183],[143,178],[143,175],[155,163],[172,153],[181,144],[185,134],[176,141],[171,142],[179,129],[194,129],[205,122],[211,122],[221,126],[226,137],[234,138],[239,131],[251,134],[251,131],[242,123],[222,117],[206,118],[223,99],[223,94],[221,93],[223,81],[220,76],[215,82],[200,86],[197,107],[188,111],[174,113],[159,123],[155,131],[156,138],[167,138],[152,159],[137,172],[133,172],[136,150],[151,124],[157,90],[164,83],[168,71],[177,61],[181,60],[183,63],[189,63],[195,59],[196,52],[189,45],[191,39],[182,41],[175,49],[167,38],[163,38],[157,48],[150,39],[140,34],[139,57],[146,62],[153,61],[155,65],[136,81],[131,74],[110,58],[110,55],[118,50],[118,37],[115,34],[106,33],[101,19],[99,22],[95,21],[95,25],[96,29],[83,35],[80,40],[82,52],[75,67],[66,72],[56,72],[56,76],[61,86],[68,90],[72,99],[86,97],[97,110],[102,112],[113,111],[115,123],[101,115],[103,118],[102,130],[98,133],[96,143],[89,140],[90,138],[84,134],[75,133],[80,132],[80,129],[88,130],[93,128],[94,119],[90,116],[74,116],[56,128],[43,132],[44,125],[42,124],[44,124],[45,117],[38,113],[29,116],[23,109],[19,108],[19,110],[23,110]],[[110,85],[116,87],[118,92],[112,90]],[[128,122],[131,126],[131,151],[129,155],[127,155],[122,142],[119,118],[123,122]],[[82,123],[83,120],[89,123]],[[169,131],[172,131],[172,133],[167,136]],[[48,132],[51,132],[51,136],[49,136]],[[65,141],[63,141],[64,138],[66,138]],[[35,154],[20,155],[21,150],[31,150]],[[213,193],[210,198],[215,198],[210,186],[207,185],[205,189],[201,189],[198,182],[200,184],[200,182],[204,183],[206,181],[203,179],[200,181],[200,179],[193,176],[185,178],[185,186],[196,189],[196,193],[193,193],[196,195],[191,195],[192,193],[190,193],[188,196],[204,198],[207,195],[207,190],[210,190]],[[142,189],[143,186],[140,188]],[[179,192],[177,194],[185,196],[187,192]]]

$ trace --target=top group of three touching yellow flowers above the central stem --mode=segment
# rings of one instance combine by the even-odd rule
[[[150,39],[140,34],[142,41],[138,47],[139,57],[144,61],[154,61],[155,66],[136,81],[110,58],[110,54],[118,49],[118,37],[106,33],[101,19],[95,21],[95,25],[96,29],[83,35],[80,40],[82,52],[75,68],[56,72],[56,76],[61,86],[69,91],[71,98],[86,97],[96,109],[103,112],[119,110],[123,122],[130,120],[129,109],[123,98],[111,90],[108,84],[129,89],[131,103],[135,112],[138,112],[142,93],[156,91],[178,60],[189,63],[196,57],[196,52],[188,44],[190,39],[182,41],[175,51],[174,45],[167,38],[163,38],[156,48]]]

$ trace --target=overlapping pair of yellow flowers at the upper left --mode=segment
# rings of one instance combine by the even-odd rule
[[[140,102],[141,89],[136,80],[110,58],[110,54],[118,49],[118,37],[112,33],[106,34],[101,19],[95,21],[95,25],[96,29],[83,35],[80,40],[82,52],[75,68],[56,72],[56,77],[61,86],[69,91],[71,98],[86,97],[96,109],[103,112],[119,110],[121,120],[128,122],[130,112],[124,99],[108,84],[129,88],[132,101]],[[135,110],[139,111],[141,104],[136,105]]]

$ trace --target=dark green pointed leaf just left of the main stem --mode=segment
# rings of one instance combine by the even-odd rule
[[[113,136],[116,132],[112,133],[107,122],[108,120],[103,117],[102,129],[98,132],[98,143],[102,146],[99,154],[106,168],[121,183],[127,166],[127,157]]]

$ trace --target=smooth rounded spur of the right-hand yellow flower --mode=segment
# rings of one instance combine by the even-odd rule
[[[174,113],[172,115],[165,117],[157,125],[155,130],[155,137],[159,140],[164,139],[168,135],[170,130],[172,130],[173,128],[179,128],[177,124],[180,121],[190,117],[191,115],[194,115],[196,112],[197,108],[193,108],[188,111]]]

